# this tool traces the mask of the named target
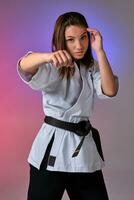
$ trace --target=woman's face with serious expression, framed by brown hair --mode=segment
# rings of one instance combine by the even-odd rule
[[[65,29],[67,51],[76,59],[82,59],[88,49],[89,38],[85,27],[71,25]]]

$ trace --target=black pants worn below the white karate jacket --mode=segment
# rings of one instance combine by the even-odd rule
[[[54,136],[48,145],[40,170],[30,165],[28,200],[61,200],[66,189],[70,200],[108,200],[102,171],[68,173],[46,170]]]

